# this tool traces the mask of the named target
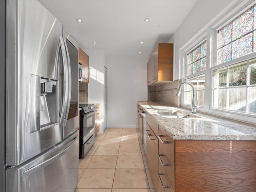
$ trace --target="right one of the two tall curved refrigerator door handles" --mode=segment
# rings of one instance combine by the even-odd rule
[[[65,115],[65,120],[64,120],[64,126],[66,125],[66,122],[68,120],[68,112],[69,112],[69,107],[70,107],[70,100],[71,100],[71,66],[70,66],[70,58],[69,58],[69,53],[68,53],[68,46],[66,43],[66,39],[64,39],[64,44],[65,44],[65,50],[66,50],[66,56],[67,56],[67,74],[68,74],[68,100],[67,100],[67,105],[66,105],[66,115]]]

